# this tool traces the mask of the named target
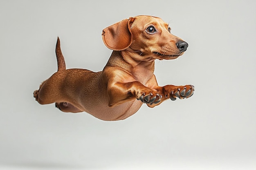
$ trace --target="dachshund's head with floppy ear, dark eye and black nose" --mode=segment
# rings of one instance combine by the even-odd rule
[[[175,59],[186,51],[188,44],[171,34],[171,28],[161,18],[140,15],[108,26],[102,31],[104,44],[112,50],[128,50],[140,59]]]

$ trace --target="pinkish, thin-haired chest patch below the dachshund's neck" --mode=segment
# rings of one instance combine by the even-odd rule
[[[139,65],[133,68],[132,76],[141,84],[146,85],[148,80],[153,76],[153,72],[146,66]]]

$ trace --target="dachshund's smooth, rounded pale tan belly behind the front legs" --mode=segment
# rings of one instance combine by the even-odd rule
[[[94,117],[105,121],[123,120],[135,114],[141,107],[142,102],[135,99],[113,108],[108,107],[107,104],[99,104],[97,109],[85,109]]]

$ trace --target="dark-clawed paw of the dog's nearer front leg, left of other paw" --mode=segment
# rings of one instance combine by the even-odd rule
[[[139,98],[137,98],[137,100],[140,100],[141,102],[146,104],[158,104],[161,101],[161,99],[162,95],[159,95],[157,92],[143,92],[141,93]]]

